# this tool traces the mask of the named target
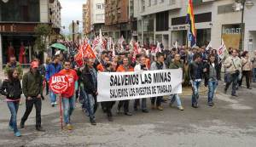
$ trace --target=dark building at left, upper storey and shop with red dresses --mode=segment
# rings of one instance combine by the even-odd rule
[[[37,54],[34,28],[38,24],[49,24],[49,1],[0,1],[0,11],[1,68],[13,55],[21,64],[29,64]]]

